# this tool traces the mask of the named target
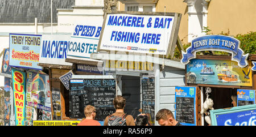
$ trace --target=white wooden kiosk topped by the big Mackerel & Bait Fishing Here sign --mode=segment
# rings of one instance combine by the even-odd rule
[[[184,85],[184,65],[168,59],[176,46],[180,17],[107,12],[97,53],[91,54],[104,61],[104,75],[117,80],[117,95],[126,99],[125,112],[134,119],[145,113],[150,125],[158,125],[155,114],[160,108],[174,109],[174,87]]]

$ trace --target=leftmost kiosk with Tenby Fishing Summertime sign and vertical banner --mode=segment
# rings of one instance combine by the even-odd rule
[[[10,33],[9,39],[1,70],[5,76],[4,125],[32,125],[32,120],[50,120],[49,76],[38,66],[42,35]]]

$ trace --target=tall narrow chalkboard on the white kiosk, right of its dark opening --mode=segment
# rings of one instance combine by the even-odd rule
[[[155,125],[155,80],[143,77],[142,86],[142,113],[148,116],[148,122]]]

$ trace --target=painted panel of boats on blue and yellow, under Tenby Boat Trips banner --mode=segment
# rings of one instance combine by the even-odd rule
[[[241,68],[234,61],[192,59],[187,83],[252,86],[251,65]]]

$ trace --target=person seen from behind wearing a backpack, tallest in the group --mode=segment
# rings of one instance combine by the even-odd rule
[[[124,112],[126,99],[120,95],[114,97],[115,113],[105,118],[104,126],[135,126],[132,115]]]

